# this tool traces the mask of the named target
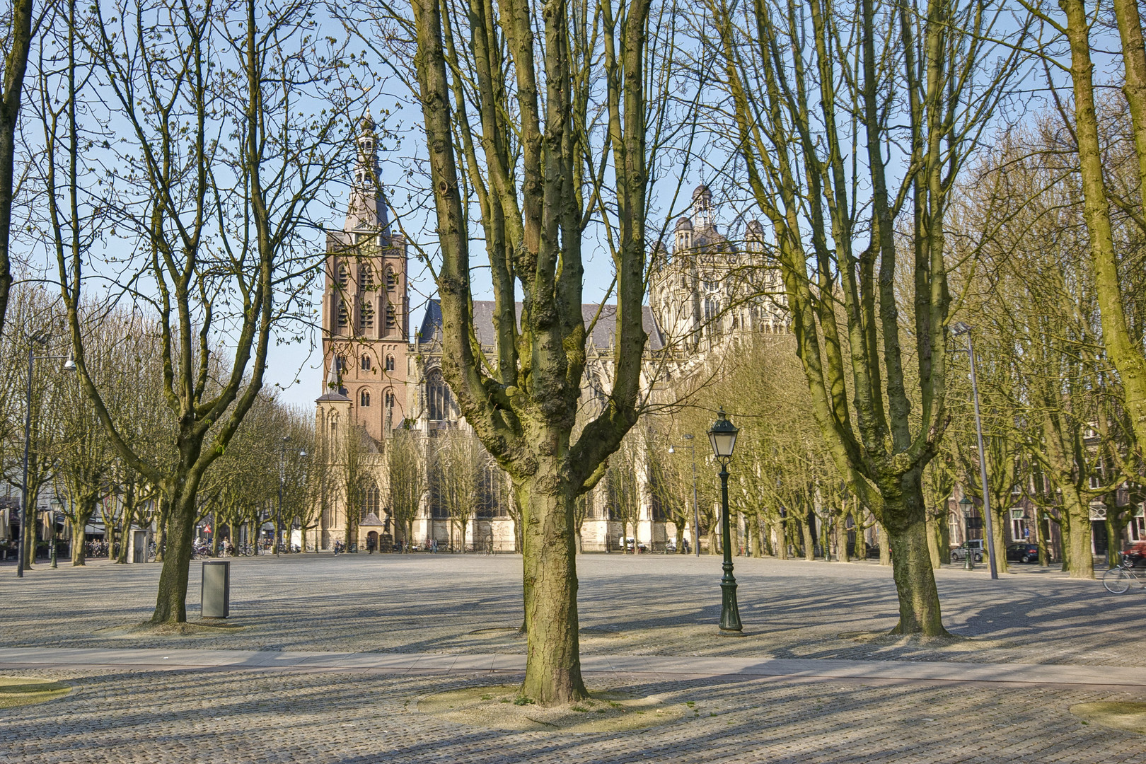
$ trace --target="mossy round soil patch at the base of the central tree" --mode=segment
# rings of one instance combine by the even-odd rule
[[[419,714],[471,727],[567,733],[639,730],[692,714],[685,703],[621,691],[590,692],[587,700],[543,708],[524,698],[519,685],[465,687],[426,695],[417,708]]]

